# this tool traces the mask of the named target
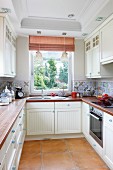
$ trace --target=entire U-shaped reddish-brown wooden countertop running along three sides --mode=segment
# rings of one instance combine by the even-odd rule
[[[8,133],[10,132],[19,112],[23,108],[26,102],[74,102],[74,101],[83,101],[91,106],[94,106],[103,112],[106,112],[113,116],[113,108],[102,108],[98,106],[92,101],[98,101],[96,97],[83,97],[83,98],[71,98],[67,97],[61,100],[26,100],[26,99],[18,99],[14,102],[10,103],[8,106],[0,106],[0,148],[5,142]]]

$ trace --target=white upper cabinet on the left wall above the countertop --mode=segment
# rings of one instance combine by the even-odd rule
[[[16,36],[8,17],[0,16],[0,77],[16,75]]]

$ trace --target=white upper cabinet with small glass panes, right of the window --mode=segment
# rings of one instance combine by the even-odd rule
[[[99,32],[85,42],[86,77],[100,77]]]

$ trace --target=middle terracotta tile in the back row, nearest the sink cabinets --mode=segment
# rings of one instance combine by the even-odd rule
[[[64,140],[48,140],[42,141],[42,152],[65,152],[67,151],[67,146]]]

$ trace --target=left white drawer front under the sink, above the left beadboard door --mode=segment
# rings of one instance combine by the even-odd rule
[[[30,102],[27,109],[54,109],[54,102]]]

